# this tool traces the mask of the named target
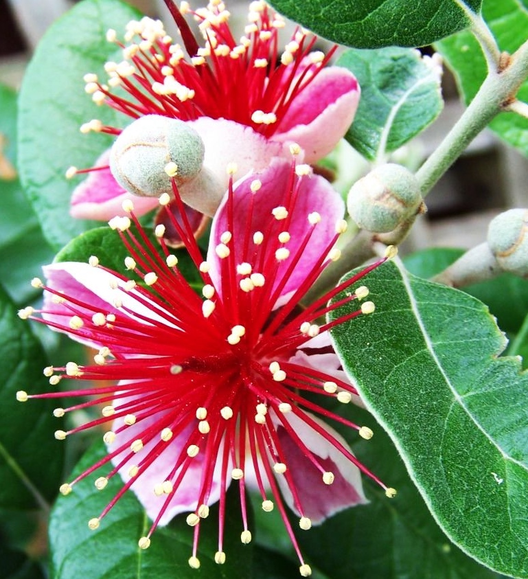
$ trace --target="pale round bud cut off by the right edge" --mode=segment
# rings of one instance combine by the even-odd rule
[[[509,209],[487,228],[489,245],[504,271],[528,275],[528,209]]]

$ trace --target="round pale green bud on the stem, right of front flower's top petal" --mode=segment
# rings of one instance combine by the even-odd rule
[[[388,163],[359,179],[349,191],[347,208],[362,229],[388,233],[417,214],[420,186],[406,168]]]

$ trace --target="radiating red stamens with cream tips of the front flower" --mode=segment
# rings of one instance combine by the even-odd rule
[[[180,223],[169,213],[200,275],[201,295],[185,280],[179,269],[179,259],[165,245],[163,231],[156,231],[160,254],[159,247],[139,224],[133,204],[126,201],[123,208],[127,215],[111,220],[110,226],[117,231],[130,253],[124,262],[126,270],[139,276],[141,283],[104,269],[100,260],[91,256],[88,267],[92,274],[100,273],[101,280],[110,284],[112,297],[107,310],[97,309],[76,296],[62,294],[60,288],[45,286],[35,279],[32,284],[43,287],[51,299],[45,302],[42,310],[25,308],[20,316],[47,323],[51,328],[68,332],[81,341],[91,341],[99,347],[92,365],[69,362],[64,367],[44,370],[53,386],[63,379],[105,381],[105,385],[98,389],[78,389],[67,393],[67,396],[95,396],[95,400],[58,408],[54,412],[55,416],[62,417],[77,409],[102,405],[100,416],[87,424],[68,431],[56,431],[58,440],[112,422],[111,429],[103,436],[108,445],[108,455],[98,466],[112,462],[113,467],[106,475],[95,479],[98,490],[104,490],[111,477],[117,473],[124,476],[124,472],[124,490],[136,481],[141,485],[141,475],[154,461],[166,461],[163,463],[166,476],[152,488],[159,498],[159,513],[153,517],[148,534],[139,539],[141,549],[149,547],[154,529],[163,524],[163,514],[177,501],[179,488],[188,484],[186,476],[197,477],[193,478],[196,509],[187,515],[186,520],[194,528],[189,564],[194,568],[200,566],[198,528],[209,514],[215,467],[222,473],[224,486],[231,479],[240,487],[240,539],[242,543],[249,543],[251,532],[244,499],[244,468],[251,459],[262,495],[262,509],[270,512],[277,506],[299,556],[299,571],[302,576],[309,576],[311,569],[297,545],[276,477],[283,477],[291,492],[295,510],[300,516],[301,530],[309,530],[312,519],[303,507],[301,493],[288,468],[287,453],[279,433],[295,441],[306,455],[310,468],[319,471],[325,486],[331,486],[339,473],[325,468],[317,455],[310,451],[292,428],[292,418],[302,420],[315,435],[334,446],[343,457],[382,486],[387,496],[394,496],[395,491],[387,488],[341,442],[321,427],[312,413],[355,429],[365,440],[371,438],[371,429],[354,424],[303,396],[316,393],[347,404],[357,395],[356,389],[347,381],[301,365],[292,357],[303,345],[330,328],[374,312],[374,304],[363,301],[368,289],[361,285],[354,290],[350,288],[386,258],[368,266],[309,306],[300,308],[300,299],[314,280],[332,260],[338,259],[333,248],[346,229],[346,222],[338,220],[334,237],[327,247],[320,248],[319,260],[306,269],[306,275],[286,303],[275,308],[301,262],[303,251],[324,218],[313,211],[306,215],[302,231],[291,229],[301,184],[303,179],[308,179],[303,166],[296,168],[293,163],[290,186],[284,192],[284,204],[273,207],[266,230],[252,229],[253,212],[256,211],[253,198],[248,201],[249,209],[242,226],[233,217],[236,190],[233,189],[232,175],[235,168],[230,167],[229,171],[231,177],[225,207],[227,227],[225,231],[218,231],[214,240],[216,264],[203,260],[185,217]],[[172,183],[176,203],[181,205],[176,183],[174,180]],[[262,182],[253,179],[247,185],[247,195],[262,194],[261,189]],[[165,207],[168,201],[167,194],[161,196],[161,207]],[[321,203],[325,201],[321,200]],[[183,205],[181,209],[185,216]],[[292,243],[292,238],[299,235],[303,236],[302,242]],[[391,249],[387,257],[392,254]],[[357,309],[347,310],[334,321],[325,321],[328,313],[353,302],[360,302]],[[38,313],[40,316],[36,315]],[[107,381],[115,381],[115,385],[108,385]],[[62,396],[65,394],[61,392],[29,395],[20,391],[17,394],[22,402],[29,398]],[[196,463],[198,460],[203,462]],[[194,470],[196,464],[200,465],[198,475]],[[63,484],[60,492],[68,495],[73,486],[93,470],[90,468]],[[119,492],[119,496],[124,490]],[[108,503],[99,516],[89,521],[91,529],[100,526],[115,502]],[[219,508],[223,520],[226,505],[222,493]],[[222,532],[220,525],[218,552],[214,556],[218,564],[224,563],[226,558]]]

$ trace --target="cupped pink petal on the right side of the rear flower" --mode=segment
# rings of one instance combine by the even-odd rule
[[[345,136],[358,108],[356,77],[343,67],[321,70],[295,97],[273,136],[303,148],[306,163],[328,155]]]

